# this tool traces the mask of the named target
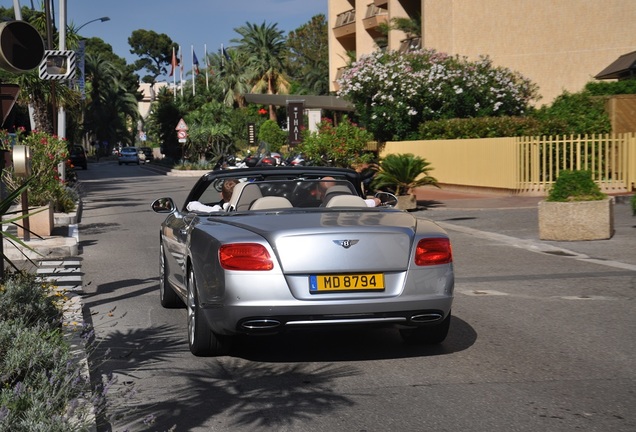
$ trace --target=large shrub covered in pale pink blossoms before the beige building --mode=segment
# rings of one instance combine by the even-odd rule
[[[352,63],[338,84],[379,141],[415,138],[427,120],[521,115],[538,98],[530,80],[487,57],[434,50],[376,51]]]

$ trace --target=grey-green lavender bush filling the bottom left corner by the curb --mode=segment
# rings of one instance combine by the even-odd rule
[[[93,394],[74,361],[53,287],[30,274],[0,285],[0,432],[89,430]]]

